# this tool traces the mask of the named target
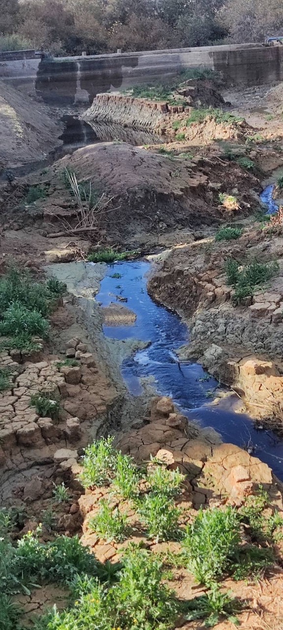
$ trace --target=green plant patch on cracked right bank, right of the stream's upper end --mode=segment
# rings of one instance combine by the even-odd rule
[[[240,265],[234,258],[228,258],[225,263],[227,284],[235,290],[233,304],[241,304],[243,298],[253,295],[257,287],[262,287],[267,280],[274,277],[278,271],[277,261],[260,263],[253,260],[250,263]]]

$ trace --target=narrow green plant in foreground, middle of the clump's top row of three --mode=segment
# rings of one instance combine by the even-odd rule
[[[140,472],[129,455],[117,454],[115,464],[114,488],[124,499],[131,499],[138,493]]]

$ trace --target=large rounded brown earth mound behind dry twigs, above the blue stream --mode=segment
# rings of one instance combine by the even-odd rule
[[[128,144],[101,143],[79,149],[53,164],[48,173],[49,196],[41,203],[48,222],[56,221],[56,217],[69,222],[72,218],[75,200],[64,186],[66,168],[78,181],[91,181],[92,190],[111,200],[99,227],[110,238],[124,243],[129,236],[133,242],[142,231],[160,234],[176,226],[194,229],[226,217],[227,210],[219,203],[221,174],[225,193],[241,183],[240,214],[251,212],[255,205],[251,191],[259,190],[255,176],[219,158],[192,160]]]

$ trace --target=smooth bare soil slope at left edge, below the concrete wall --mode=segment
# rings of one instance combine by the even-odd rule
[[[60,144],[60,129],[44,105],[0,81],[0,173],[46,157]]]

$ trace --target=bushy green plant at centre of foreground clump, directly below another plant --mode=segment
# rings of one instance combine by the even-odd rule
[[[147,535],[158,541],[176,540],[180,537],[178,519],[180,510],[166,493],[145,495],[138,506],[138,514],[147,527]]]

